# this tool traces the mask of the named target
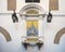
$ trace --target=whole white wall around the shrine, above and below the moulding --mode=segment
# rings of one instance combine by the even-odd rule
[[[41,6],[46,11],[48,11],[48,1],[46,0],[41,3],[43,3]],[[65,0],[60,0],[60,11],[53,11],[53,13],[62,13],[65,14],[65,8],[64,5]],[[17,9],[16,11],[20,12],[20,10],[25,5],[23,0],[17,0]],[[0,13],[9,13],[6,10],[6,0],[0,0]],[[65,35],[61,38],[60,44],[54,43],[54,38],[56,32],[65,27],[65,16],[53,16],[51,23],[47,23],[47,17],[44,20],[39,21],[39,35],[43,36],[43,47],[40,51],[38,51],[37,47],[31,48],[29,47],[26,51],[22,46],[22,36],[26,36],[26,21],[21,20],[18,16],[20,22],[17,24],[14,24],[10,15],[0,15],[0,26],[5,28],[12,38],[12,41],[6,42],[5,38],[0,34],[0,52],[65,52]]]

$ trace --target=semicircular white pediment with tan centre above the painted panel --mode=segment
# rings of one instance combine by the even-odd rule
[[[20,15],[23,14],[30,14],[30,15],[44,14],[44,10],[38,4],[27,4],[23,6],[20,11]]]

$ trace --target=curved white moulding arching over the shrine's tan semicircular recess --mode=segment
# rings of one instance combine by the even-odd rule
[[[36,10],[39,10],[42,14],[44,14],[44,10],[42,9],[42,6],[40,6],[38,4],[27,4],[27,5],[25,5],[24,8],[21,9],[20,14],[23,14],[28,9],[36,9]]]

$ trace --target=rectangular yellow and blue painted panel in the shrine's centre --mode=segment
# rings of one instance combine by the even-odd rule
[[[38,21],[26,22],[27,36],[38,36]]]

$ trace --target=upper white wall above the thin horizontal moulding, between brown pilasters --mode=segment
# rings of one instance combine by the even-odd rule
[[[16,0],[16,12],[20,12],[20,10],[26,5],[26,4],[30,4],[30,3],[25,3],[25,0]],[[39,4],[40,6],[42,6],[46,12],[49,11],[49,0],[40,0],[40,3],[35,3],[35,4]],[[53,13],[62,13],[65,14],[65,0],[58,0],[58,11],[52,11]],[[8,1],[6,0],[0,0],[0,13],[9,13],[12,11],[8,11]]]

